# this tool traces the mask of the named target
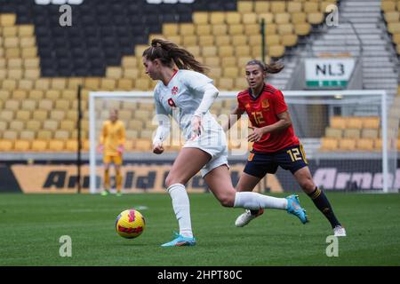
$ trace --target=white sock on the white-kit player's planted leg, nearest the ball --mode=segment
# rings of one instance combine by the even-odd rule
[[[172,207],[180,225],[180,234],[192,238],[192,225],[190,222],[190,203],[185,185],[175,184],[167,188],[172,199]]]

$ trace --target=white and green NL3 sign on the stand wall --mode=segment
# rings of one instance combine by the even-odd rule
[[[352,58],[306,59],[308,87],[346,87],[356,60]]]

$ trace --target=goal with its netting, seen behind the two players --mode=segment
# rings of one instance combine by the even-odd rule
[[[236,91],[221,91],[212,114],[223,125],[236,106]],[[284,91],[292,124],[305,149],[316,185],[328,191],[398,192],[398,112],[388,104],[385,91]],[[390,107],[388,107],[390,106]],[[97,151],[101,125],[110,109],[117,109],[126,128],[124,192],[163,192],[164,178],[184,140],[179,125],[171,120],[171,134],[164,142],[165,153],[152,154],[151,142],[157,119],[152,92],[90,92],[90,192],[103,186],[102,155]],[[243,117],[228,131],[228,160],[235,184],[244,168],[248,151],[248,118]],[[113,176],[111,172],[111,176]],[[292,174],[278,170],[260,183],[261,192],[300,190]],[[114,184],[111,179],[111,185]],[[194,177],[188,191],[206,190]]]

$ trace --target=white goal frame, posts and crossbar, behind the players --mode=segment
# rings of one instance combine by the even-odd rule
[[[220,91],[220,98],[236,98],[238,91]],[[132,98],[153,98],[152,91],[90,91],[89,92],[89,164],[90,164],[90,193],[96,193],[96,114],[95,99],[110,98],[110,94],[115,99]],[[355,90],[355,91],[284,91],[285,98],[305,98],[305,97],[332,97],[332,96],[380,96],[381,106],[381,129],[382,129],[382,174],[383,174],[383,193],[389,193],[388,186],[388,106],[387,92],[383,90]]]

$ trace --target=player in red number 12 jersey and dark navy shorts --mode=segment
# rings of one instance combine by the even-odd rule
[[[237,106],[231,113],[228,130],[241,116],[247,113],[252,122],[249,142],[253,149],[244,167],[236,190],[251,192],[267,173],[275,174],[280,166],[290,170],[305,193],[312,199],[332,225],[335,236],[346,236],[346,230],[335,217],[332,206],[324,192],[314,184],[303,147],[294,134],[284,95],[265,83],[268,74],[279,73],[284,67],[278,64],[265,65],[260,60],[251,60],[245,67],[249,89],[237,95]],[[253,218],[264,212],[246,210],[236,219],[236,226],[247,225]]]

